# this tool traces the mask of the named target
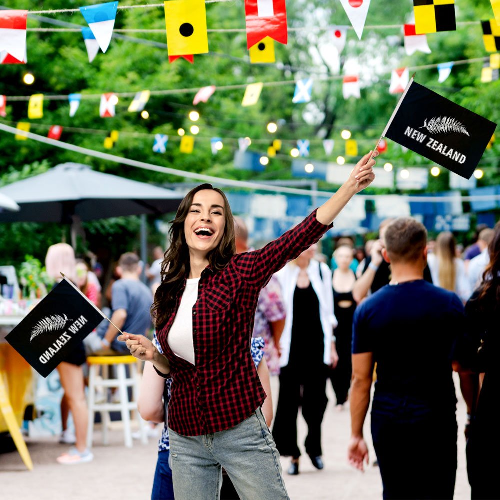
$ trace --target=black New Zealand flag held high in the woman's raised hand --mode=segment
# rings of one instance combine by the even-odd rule
[[[469,179],[496,123],[410,79],[382,136]]]

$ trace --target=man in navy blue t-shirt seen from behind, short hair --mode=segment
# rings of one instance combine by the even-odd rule
[[[384,498],[452,498],[456,476],[456,396],[452,351],[464,311],[452,292],[423,279],[425,227],[398,218],[385,231],[390,283],[356,309],[353,323],[349,462],[363,469],[363,423],[373,366],[371,433]]]

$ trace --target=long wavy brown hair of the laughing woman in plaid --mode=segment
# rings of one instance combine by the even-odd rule
[[[177,296],[189,276],[189,248],[184,234],[184,221],[189,213],[194,195],[198,191],[210,189],[218,192],[224,199],[225,228],[220,243],[207,255],[213,271],[223,269],[236,253],[234,242],[234,219],[225,194],[211,184],[201,184],[191,189],[181,201],[175,218],[171,221],[169,232],[170,246],[161,264],[161,284],[154,295],[151,314],[159,330],[175,309]]]

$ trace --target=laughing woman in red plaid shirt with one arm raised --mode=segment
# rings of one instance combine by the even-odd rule
[[[289,498],[250,352],[257,300],[272,274],[316,243],[373,181],[370,158],[300,224],[251,252],[235,254],[233,217],[221,190],[202,184],[181,202],[152,307],[164,355],[144,336],[119,338],[159,375],[173,376],[168,431],[176,497],[218,498],[224,467],[241,498]]]

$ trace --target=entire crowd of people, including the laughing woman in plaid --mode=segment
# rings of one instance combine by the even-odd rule
[[[222,191],[194,188],[172,222],[168,248],[154,249],[147,286],[134,253],[120,257],[116,280],[102,290],[69,245],[50,247],[47,272],[56,278],[62,270],[99,307],[107,297],[112,323],[125,332],[104,321],[59,365],[61,442],[75,446],[58,462],[92,460],[85,349],[113,351],[145,362],[139,411],[162,430],[153,499],[289,498],[279,455],[291,458],[288,474],[299,474],[299,409],[303,449],[314,467],[325,466],[328,379],[336,409],[350,407],[348,460],[361,470],[376,381],[370,420],[384,498],[452,498],[455,370],[469,413],[472,497],[500,496],[494,460],[485,459],[486,447],[500,440],[493,424],[500,225],[481,228],[462,253],[451,232],[431,241],[414,219],[387,219],[364,247],[337,240],[327,265],[317,242],[371,183],[373,164],[366,155],[324,205],[257,250]],[[279,377],[277,394],[271,376]],[[439,453],[430,452],[436,442]]]

